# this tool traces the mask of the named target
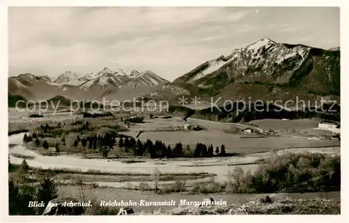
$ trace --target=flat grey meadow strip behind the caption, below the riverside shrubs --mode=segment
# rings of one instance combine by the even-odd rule
[[[59,188],[59,193],[62,196],[81,196],[81,189],[76,186],[61,186]],[[135,212],[140,213],[144,211],[145,213],[153,213],[154,210],[170,210],[179,205],[180,200],[186,199],[187,201],[202,201],[203,199],[207,199],[212,197],[215,201],[226,201],[228,205],[231,204],[242,204],[247,203],[249,201],[253,201],[258,199],[265,194],[183,194],[173,193],[173,194],[164,194],[158,195],[154,194],[154,192],[140,192],[133,191],[128,189],[116,189],[116,188],[106,188],[99,187],[96,189],[91,189],[90,187],[85,187],[85,194],[88,195],[88,199],[91,201],[96,201],[96,203],[101,203],[101,201],[171,201],[174,200],[175,206],[133,206],[133,210]],[[306,193],[306,194],[269,194],[273,199],[285,199],[290,197],[292,199],[312,199],[315,197],[322,197],[324,199],[333,199],[334,201],[341,200],[340,192],[324,192],[324,193]],[[185,206],[184,206],[185,207]],[[114,207],[118,209],[119,207]]]

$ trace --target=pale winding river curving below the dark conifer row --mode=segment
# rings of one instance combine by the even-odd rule
[[[211,159],[187,159],[177,161],[162,161],[147,160],[143,163],[126,164],[117,160],[107,159],[84,159],[77,156],[60,155],[60,156],[43,156],[34,151],[27,150],[22,144],[22,134],[14,134],[8,136],[10,161],[13,164],[22,163],[23,159],[15,157],[15,154],[33,157],[27,159],[27,163],[31,167],[36,168],[68,168],[79,171],[108,171],[114,173],[147,173],[154,172],[154,168],[158,168],[161,173],[214,173],[216,182],[225,182],[228,180],[228,172],[232,171],[235,166],[240,166],[244,171],[255,171],[258,168],[258,161],[270,157],[270,152],[263,152],[258,154],[251,154],[245,157],[219,157]],[[331,148],[324,148],[322,152],[326,152]],[[309,150],[302,149],[298,151]],[[316,149],[318,150],[318,148]],[[289,150],[288,150],[289,151]],[[283,151],[279,151],[283,152]],[[319,151],[320,152],[320,151]],[[327,152],[332,152],[331,150]],[[202,181],[202,179],[198,179]],[[198,182],[198,180],[188,180],[188,183]],[[110,187],[130,187],[130,185],[138,184],[139,182],[96,182],[98,185],[105,185]],[[149,182],[151,183],[151,182]],[[172,183],[165,181],[162,183]]]

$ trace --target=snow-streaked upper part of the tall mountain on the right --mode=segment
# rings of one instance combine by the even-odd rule
[[[229,73],[229,78],[240,78],[249,75],[246,78],[258,79],[258,75],[267,75],[275,81],[286,81],[279,76],[292,75],[304,64],[309,57],[311,47],[298,44],[276,43],[269,38],[262,38],[255,43],[247,45],[245,48],[239,48],[232,51],[227,57],[221,56],[209,60],[204,64],[197,66],[192,71],[177,78],[175,82],[184,81],[190,83],[205,82],[209,77],[214,78],[221,71]],[[287,65],[286,65],[287,64]],[[285,69],[284,67],[290,68]],[[234,73],[231,73],[234,71]]]

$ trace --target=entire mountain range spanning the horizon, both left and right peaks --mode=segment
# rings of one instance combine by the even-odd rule
[[[234,100],[340,99],[340,48],[277,43],[263,38],[228,56],[211,59],[168,82],[151,71],[110,70],[57,78],[24,73],[8,78],[8,92],[26,99],[77,100],[137,97],[177,101],[179,96]]]

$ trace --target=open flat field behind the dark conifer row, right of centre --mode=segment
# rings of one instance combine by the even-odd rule
[[[276,120],[276,122],[285,122],[282,120]],[[309,120],[297,120],[298,122],[291,123],[302,123],[298,124],[298,129],[309,128]],[[137,136],[139,130],[148,130],[140,135],[140,140],[145,141],[147,138],[151,140],[161,140],[166,144],[175,145],[181,142],[183,145],[190,145],[191,148],[195,148],[197,143],[205,143],[207,145],[212,144],[214,148],[216,146],[220,147],[222,144],[225,145],[227,152],[235,152],[239,154],[252,154],[255,152],[267,152],[270,150],[279,150],[283,148],[312,148],[312,147],[327,147],[327,146],[338,146],[338,142],[325,141],[318,139],[307,139],[307,138],[293,138],[287,136],[269,136],[266,138],[242,138],[246,134],[226,134],[223,132],[224,129],[229,129],[230,126],[236,126],[237,128],[242,128],[239,125],[228,124],[228,123],[217,123],[217,122],[207,122],[205,120],[193,120],[189,119],[188,122],[191,124],[200,124],[206,127],[207,130],[202,131],[149,131],[155,129],[161,129],[168,126],[181,126],[181,120],[174,117],[170,120],[154,119],[148,120],[146,123],[141,123],[135,127],[131,127],[130,130],[125,134],[129,136]],[[267,121],[265,121],[267,122]],[[314,124],[316,121],[311,121]],[[258,124],[257,120],[253,123]],[[290,123],[290,122],[288,122]],[[292,124],[295,125],[295,124]],[[259,125],[258,125],[259,126]],[[271,124],[271,126],[273,126]],[[276,126],[276,124],[274,124]],[[287,124],[286,126],[292,127]],[[279,124],[281,127],[281,124]],[[285,127],[285,126],[284,126]],[[269,129],[269,127],[262,127],[263,129]],[[278,129],[280,130],[280,128]],[[320,130],[313,130],[320,131]],[[328,133],[328,132],[327,132]]]

